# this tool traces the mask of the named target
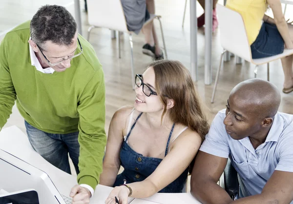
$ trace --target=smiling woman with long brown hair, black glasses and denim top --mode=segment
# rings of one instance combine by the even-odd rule
[[[155,61],[135,83],[134,106],[117,110],[109,126],[100,184],[114,189],[106,204],[115,204],[115,196],[127,204],[128,196],[181,193],[209,130],[188,69],[179,61]]]

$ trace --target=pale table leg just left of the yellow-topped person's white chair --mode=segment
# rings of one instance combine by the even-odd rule
[[[211,84],[212,0],[205,0],[205,2],[205,84],[209,85]]]

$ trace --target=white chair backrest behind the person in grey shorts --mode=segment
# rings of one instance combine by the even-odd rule
[[[88,23],[128,32],[121,0],[87,0]]]

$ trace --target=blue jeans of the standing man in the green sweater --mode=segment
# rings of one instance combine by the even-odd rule
[[[49,163],[70,174],[68,149],[65,143],[58,138],[58,134],[43,132],[26,121],[25,127],[28,140],[36,152]]]

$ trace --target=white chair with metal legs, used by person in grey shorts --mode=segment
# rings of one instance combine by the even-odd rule
[[[134,82],[134,67],[133,67],[133,43],[132,43],[132,32],[127,29],[126,19],[123,11],[123,7],[120,0],[87,0],[87,14],[88,23],[91,27],[88,28],[87,41],[89,41],[90,31],[96,27],[109,28],[119,32],[129,34],[129,43],[131,48],[131,75],[132,75],[132,87],[135,86]],[[160,28],[162,32],[165,58],[167,59],[167,50],[163,34],[161,16],[150,15],[149,20],[145,24],[151,22],[154,19],[159,20]],[[118,35],[118,46],[119,46],[119,58],[121,58],[120,49],[120,35]]]

